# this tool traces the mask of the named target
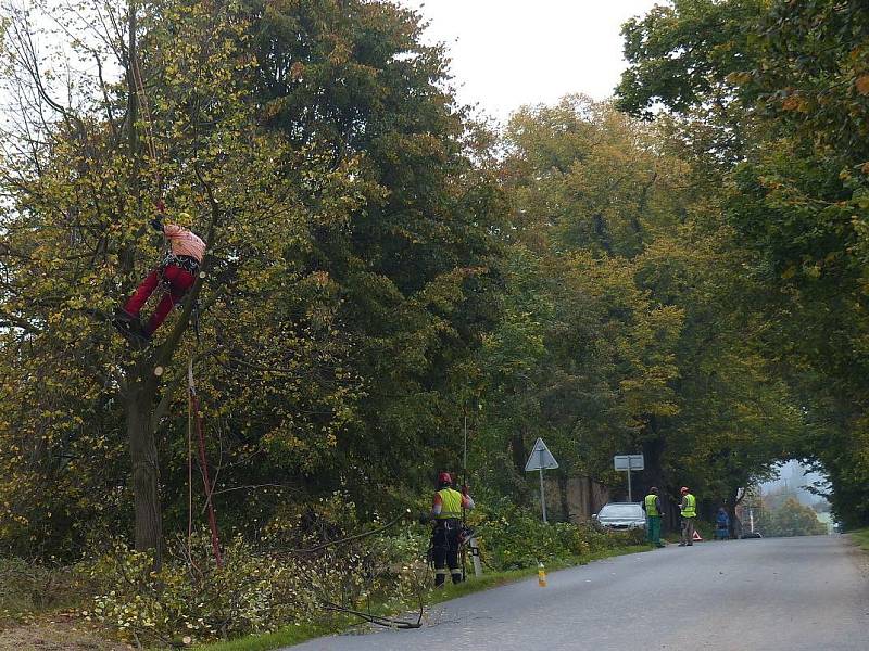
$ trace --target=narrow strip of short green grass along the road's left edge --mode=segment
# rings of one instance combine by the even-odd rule
[[[867,529],[869,532],[869,529]],[[585,565],[591,561],[600,561],[612,557],[625,556],[629,553],[638,553],[640,551],[650,551],[652,547],[647,545],[632,545],[629,547],[619,547],[617,549],[608,549],[595,554],[587,557],[575,557],[571,559],[564,559],[546,566],[547,572],[556,570],[565,570],[567,567],[575,567],[577,565]],[[480,578],[474,578],[466,583],[458,585],[448,585],[443,590],[433,591],[430,593],[429,603],[441,603],[457,599],[466,595],[479,592],[496,588],[499,586],[507,585],[517,580],[522,580],[537,575],[537,567],[526,567],[524,570],[508,570],[505,572],[487,572]],[[408,607],[411,608],[411,607]],[[290,647],[299,644],[306,640],[322,637],[333,633],[345,630],[353,624],[357,624],[358,620],[349,615],[333,615],[327,621],[316,624],[301,624],[299,626],[287,626],[275,633],[264,635],[252,635],[236,640],[228,640],[225,642],[215,642],[212,644],[200,644],[194,647],[197,651],[272,651],[281,647]]]

